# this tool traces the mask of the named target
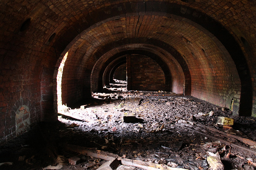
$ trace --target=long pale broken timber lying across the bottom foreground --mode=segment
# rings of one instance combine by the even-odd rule
[[[92,156],[92,157],[100,158],[104,160],[113,160],[114,158],[117,158],[118,160],[121,161],[123,165],[135,166],[138,168],[143,168],[145,170],[186,170],[183,168],[172,168],[165,164],[155,164],[155,163],[146,162],[142,160],[132,160],[128,158],[121,158],[117,154],[104,152],[102,150],[88,149],[86,147],[80,147],[76,145],[64,145],[64,148],[73,152],[78,152],[80,154],[84,154],[87,156]]]

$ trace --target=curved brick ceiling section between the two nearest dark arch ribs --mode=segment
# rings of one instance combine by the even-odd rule
[[[161,40],[175,49],[176,53],[179,54],[177,60],[185,62],[179,64],[185,65],[183,67],[187,67],[190,71],[193,80],[192,95],[206,98],[215,93],[227,98],[227,94],[221,94],[222,92],[218,90],[219,84],[229,84],[230,86],[226,88],[230,88],[231,92],[235,88],[240,88],[234,62],[218,39],[200,25],[175,15],[168,15],[168,17],[130,16],[104,21],[103,24],[98,24],[95,28],[86,29],[71,43],[70,51],[75,51],[75,53],[70,55],[72,57],[66,61],[66,64],[72,63],[70,69],[68,66],[66,67],[66,75],[70,78],[74,65],[91,70],[101,56],[111,51],[112,48],[119,48],[125,43],[122,41],[123,39],[128,39],[127,43],[134,43],[134,46],[139,48],[140,43],[135,43],[136,39],[143,38],[146,39],[147,43],[150,42],[147,39],[153,39],[156,42]],[[141,42],[145,43],[144,41]],[[162,48],[162,44],[155,43],[154,45],[156,49],[158,46]],[[143,46],[141,48],[143,49]],[[117,51],[130,49],[134,48],[125,46]],[[150,49],[145,48],[144,50]],[[111,53],[110,56],[114,54]],[[172,55],[170,54],[170,56]],[[166,63],[168,60],[171,61],[172,58],[166,59]],[[220,70],[220,68],[223,69]],[[185,69],[183,68],[183,70]],[[73,74],[77,75],[77,71],[73,71]],[[180,76],[184,76],[184,73]],[[238,86],[235,86],[234,79],[238,82]],[[95,81],[92,81],[92,84],[95,84]],[[226,100],[224,98],[222,99],[223,102]],[[228,96],[228,98],[232,100],[232,96]],[[212,96],[212,100],[212,102],[217,102],[214,101],[214,96]]]

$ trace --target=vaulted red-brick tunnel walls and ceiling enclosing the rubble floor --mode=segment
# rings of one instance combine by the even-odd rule
[[[0,2],[0,143],[57,121],[126,65],[130,90],[164,90],[256,117],[256,2]],[[141,76],[138,75],[140,72]]]

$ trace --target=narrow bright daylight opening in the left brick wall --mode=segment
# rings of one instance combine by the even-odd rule
[[[65,54],[65,56],[63,57],[59,69],[58,69],[58,74],[57,74],[57,105],[58,105],[58,111],[61,110],[62,108],[62,96],[61,96],[61,81],[62,81],[62,72],[63,72],[63,68],[65,65],[65,61],[67,59],[68,56],[68,52]]]

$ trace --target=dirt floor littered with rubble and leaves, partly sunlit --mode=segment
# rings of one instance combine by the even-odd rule
[[[0,146],[0,162],[12,162],[0,169],[42,170],[51,165],[51,169],[93,170],[106,162],[67,150],[66,144],[191,170],[210,169],[207,158],[218,153],[225,170],[256,169],[256,146],[206,128],[224,131],[217,119],[230,117],[234,125],[229,134],[256,141],[255,117],[235,117],[227,108],[191,96],[127,91],[122,83],[92,94],[91,100],[71,109],[63,106],[59,122],[40,123]],[[80,162],[73,165],[68,158]],[[118,170],[142,168],[120,165]]]

